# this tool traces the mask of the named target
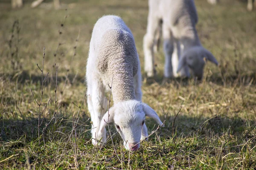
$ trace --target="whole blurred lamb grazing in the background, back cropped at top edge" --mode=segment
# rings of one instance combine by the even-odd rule
[[[205,59],[218,65],[215,57],[199,40],[194,0],[148,0],[148,25],[143,38],[145,73],[154,77],[154,46],[162,23],[165,54],[164,77],[190,77],[189,69],[198,79],[203,76]],[[162,21],[162,22],[161,22]]]

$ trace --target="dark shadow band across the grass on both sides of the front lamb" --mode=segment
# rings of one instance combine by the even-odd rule
[[[24,138],[26,142],[31,142],[38,139],[38,119],[34,117],[23,117],[22,119],[14,119],[12,115],[5,113],[3,119],[0,122],[0,141],[16,141]],[[166,120],[165,127],[161,127],[157,131],[159,136],[165,139],[173,139],[183,137],[191,137],[194,134],[198,137],[204,138],[204,136],[211,136],[212,134],[221,136],[223,134],[234,135],[238,138],[253,138],[256,134],[256,121],[243,119],[241,117],[227,117],[227,116],[213,116],[213,117],[200,117],[200,116],[188,116],[178,115],[175,123],[173,121],[175,116],[160,116],[161,120]],[[41,119],[42,120],[42,119]],[[65,116],[58,116],[53,119],[47,126],[44,132],[45,141],[59,140],[60,138],[68,138],[68,135],[72,133],[74,122],[77,119],[67,118]],[[40,126],[40,134],[42,134],[49,118],[44,118]],[[153,119],[147,119],[146,125],[148,127],[148,133],[157,128],[156,122]],[[78,124],[74,126],[76,128],[76,134],[81,135],[83,139],[90,140],[90,117],[82,114]],[[108,127],[108,137],[109,130]],[[114,125],[110,125],[111,134],[116,133]],[[155,134],[150,137],[154,139]],[[41,140],[43,140],[41,138]],[[122,141],[119,134],[113,137],[113,142]]]

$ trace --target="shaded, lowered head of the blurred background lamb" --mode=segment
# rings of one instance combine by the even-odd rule
[[[204,65],[207,60],[218,65],[218,62],[212,53],[204,47],[196,46],[189,48],[184,51],[180,57],[177,72],[179,72],[181,68],[188,66],[193,76],[201,79],[204,74]]]

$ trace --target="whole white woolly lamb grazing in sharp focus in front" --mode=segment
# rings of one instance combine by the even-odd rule
[[[148,136],[145,116],[159,125],[163,123],[157,113],[141,101],[139,56],[133,35],[120,17],[107,15],[96,22],[86,69],[92,143],[102,146],[106,142],[105,126],[113,122],[125,148],[137,150],[140,140]],[[111,84],[113,106],[106,112],[105,92]]]

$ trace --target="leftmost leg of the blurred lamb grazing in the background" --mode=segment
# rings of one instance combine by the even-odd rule
[[[144,70],[147,77],[154,77],[156,74],[156,70],[154,68],[154,42],[156,41],[155,35],[157,34],[159,24],[159,18],[149,11],[147,33],[143,38]]]

